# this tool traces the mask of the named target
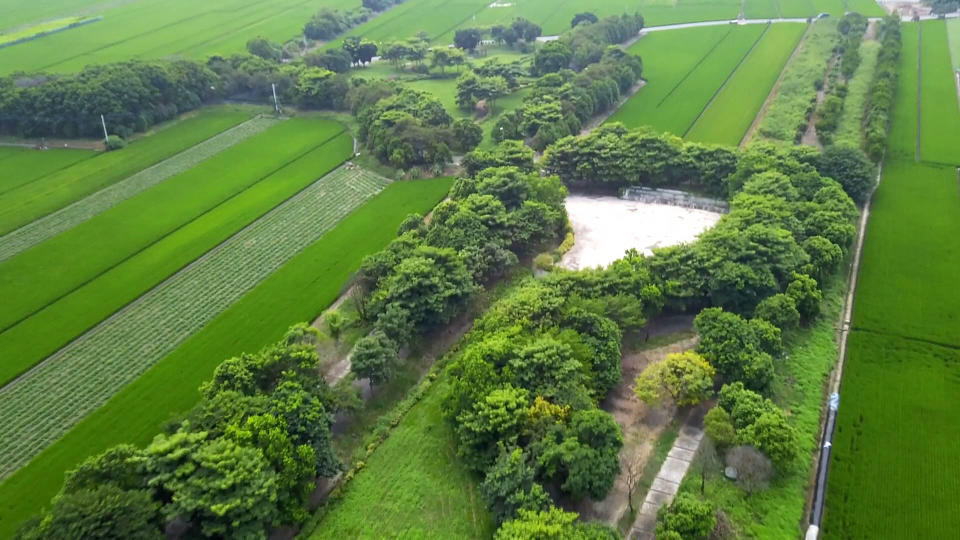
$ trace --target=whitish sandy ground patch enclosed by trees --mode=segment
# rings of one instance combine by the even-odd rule
[[[576,243],[560,265],[571,270],[606,266],[630,248],[649,255],[653,248],[690,242],[722,216],[592,195],[571,195],[566,206]]]

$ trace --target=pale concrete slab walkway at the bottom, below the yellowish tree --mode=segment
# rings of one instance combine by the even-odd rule
[[[630,529],[628,538],[631,540],[654,539],[653,530],[657,526],[657,511],[661,506],[673,502],[674,496],[680,489],[680,482],[683,481],[690,463],[697,455],[701,439],[703,439],[703,430],[696,425],[688,423],[680,428],[680,435],[674,441],[673,448],[670,449],[667,459],[660,467],[660,472],[657,473],[653,484],[650,485],[650,490],[647,491],[647,497],[640,505],[640,512]]]

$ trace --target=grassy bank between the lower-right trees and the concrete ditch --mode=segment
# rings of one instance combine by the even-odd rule
[[[784,336],[787,356],[776,362],[772,399],[784,409],[799,432],[798,455],[770,488],[747,496],[717,469],[706,482],[704,498],[722,508],[743,537],[794,540],[801,536],[810,466],[817,448],[824,384],[837,359],[837,321],[846,293],[846,272],[824,287],[820,317],[809,328]],[[699,461],[691,471],[700,470]],[[700,493],[700,476],[688,474],[682,491]]]

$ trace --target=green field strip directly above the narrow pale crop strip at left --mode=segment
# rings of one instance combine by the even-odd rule
[[[0,235],[55,212],[178,154],[253,116],[249,107],[212,107],[106,152],[0,194]]]

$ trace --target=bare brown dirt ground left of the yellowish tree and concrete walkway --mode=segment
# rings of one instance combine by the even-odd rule
[[[689,320],[680,326],[689,329]],[[676,324],[664,328],[673,329]],[[652,333],[651,333],[652,335]],[[623,377],[607,398],[600,404],[603,410],[613,415],[623,431],[623,448],[620,461],[632,464],[635,471],[642,471],[653,454],[654,445],[663,429],[676,415],[674,405],[663,408],[650,408],[633,394],[633,381],[648,365],[659,362],[668,354],[683,352],[697,345],[697,337],[682,339],[675,343],[653,349],[628,352],[623,355]],[[629,509],[627,500],[628,483],[626,476],[620,474],[613,488],[602,501],[584,500],[576,506],[576,511],[587,520],[599,520],[616,527],[620,518]],[[634,507],[640,501],[634,500]]]

